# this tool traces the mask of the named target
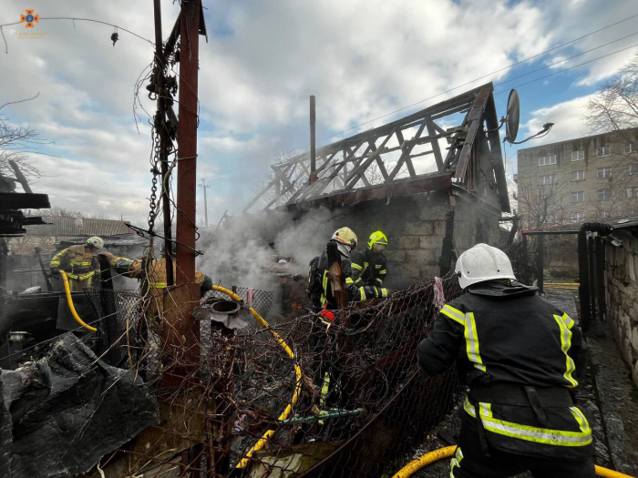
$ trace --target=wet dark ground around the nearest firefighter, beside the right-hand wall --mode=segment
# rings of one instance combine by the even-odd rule
[[[550,289],[546,299],[578,320],[578,291]],[[605,468],[638,477],[638,390],[605,323],[592,327],[587,341],[590,346],[588,373],[578,388],[577,400],[592,426],[594,461]],[[455,444],[460,426],[457,412],[455,409],[439,423],[404,463],[427,451]],[[413,476],[447,477],[449,460],[430,465]],[[518,478],[530,477],[525,473]]]

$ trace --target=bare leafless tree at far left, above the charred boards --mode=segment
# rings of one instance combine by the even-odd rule
[[[37,96],[36,96],[37,97]],[[39,169],[26,158],[27,153],[39,153],[38,149],[50,144],[48,140],[30,127],[17,127],[3,114],[3,108],[30,101],[33,98],[5,103],[0,106],[0,176],[13,178],[14,169],[9,161],[13,161],[26,178],[40,178]]]

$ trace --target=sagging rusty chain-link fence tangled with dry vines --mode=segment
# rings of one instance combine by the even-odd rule
[[[248,300],[249,290],[236,290]],[[147,299],[88,290],[101,319],[98,355],[139,371],[170,410],[153,428],[152,445],[140,439],[101,466],[125,457],[136,473],[391,475],[458,403],[456,371],[428,377],[415,351],[441,300],[459,293],[451,277],[353,303],[333,321],[308,314],[273,320],[270,329],[242,307],[248,326],[199,320],[200,342],[180,348],[164,339],[166,321],[149,311]],[[273,295],[250,295],[265,315]],[[205,299],[221,298],[211,292]]]

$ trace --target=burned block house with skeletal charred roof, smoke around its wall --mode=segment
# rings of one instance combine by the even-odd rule
[[[314,172],[311,163],[304,153],[273,165],[272,180],[234,219],[249,221],[275,251],[295,256],[299,270],[307,271],[335,229],[355,230],[360,247],[380,229],[389,238],[386,285],[405,288],[445,274],[478,242],[497,245],[499,218],[509,212],[491,83],[320,147]],[[301,233],[313,216],[320,224],[304,240],[312,247],[301,257],[282,248],[281,231]],[[305,287],[283,284],[294,298]],[[296,302],[284,309],[298,308]]]

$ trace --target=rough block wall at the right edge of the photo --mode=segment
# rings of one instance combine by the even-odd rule
[[[638,231],[624,233],[623,245],[606,246],[605,293],[607,320],[623,359],[638,385]]]

